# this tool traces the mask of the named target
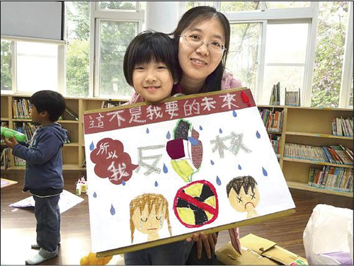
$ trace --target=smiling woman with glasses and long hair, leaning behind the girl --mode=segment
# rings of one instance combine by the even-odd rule
[[[205,93],[242,86],[241,81],[225,71],[230,25],[222,13],[210,6],[191,8],[171,35],[178,46],[181,68],[180,81],[173,87],[172,94]],[[142,98],[135,92],[130,103],[139,101]],[[238,229],[230,229],[229,233],[232,245],[240,253]],[[217,263],[214,255],[216,243],[215,233],[194,233],[187,241],[125,253],[125,264],[211,265]],[[202,260],[198,260],[200,258]]]

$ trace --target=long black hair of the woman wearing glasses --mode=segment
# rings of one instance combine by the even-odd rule
[[[175,40],[176,46],[178,47],[180,35],[182,35],[183,30],[190,28],[192,25],[205,21],[207,19],[217,18],[224,29],[225,35],[225,47],[227,50],[222,54],[222,60],[205,81],[205,91],[220,91],[221,90],[221,81],[222,75],[224,74],[224,69],[227,60],[227,53],[230,44],[230,23],[227,20],[227,17],[224,16],[223,13],[217,11],[212,6],[196,6],[195,8],[190,8],[187,12],[185,12],[182,18],[178,21],[177,28],[173,30],[173,39]],[[183,75],[183,71],[181,67],[179,68],[180,79]]]

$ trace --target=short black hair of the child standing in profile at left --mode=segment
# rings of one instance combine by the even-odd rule
[[[30,103],[35,105],[37,112],[47,111],[49,120],[55,122],[65,110],[65,100],[57,91],[37,91],[30,97]]]

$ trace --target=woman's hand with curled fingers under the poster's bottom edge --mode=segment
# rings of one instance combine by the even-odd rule
[[[197,257],[202,258],[202,246],[204,244],[205,253],[207,253],[207,258],[212,258],[212,253],[215,253],[215,246],[217,245],[217,234],[210,233],[206,235],[203,232],[193,233],[191,238],[187,238],[186,241],[197,242]]]

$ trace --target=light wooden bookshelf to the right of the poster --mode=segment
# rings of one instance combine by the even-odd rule
[[[285,143],[309,146],[341,144],[348,149],[353,149],[353,137],[338,137],[331,134],[331,121],[333,117],[353,117],[353,110],[341,108],[304,108],[282,105],[258,105],[258,109],[284,111],[279,163],[289,187],[299,190],[353,197],[353,192],[320,189],[307,184],[310,168],[322,168],[323,166],[353,168],[353,165],[310,161],[298,158],[287,158],[284,156]],[[273,132],[268,133],[275,134]]]

